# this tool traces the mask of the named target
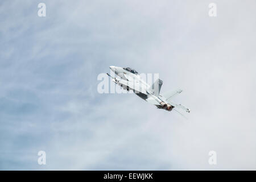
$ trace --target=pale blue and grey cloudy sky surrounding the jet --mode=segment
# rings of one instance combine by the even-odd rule
[[[256,2],[209,3],[1,1],[0,169],[255,170]],[[110,65],[183,89],[188,119],[98,93]]]

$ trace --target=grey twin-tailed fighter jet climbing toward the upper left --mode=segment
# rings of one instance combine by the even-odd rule
[[[109,73],[106,73],[109,77],[112,78],[112,81],[115,84],[118,84],[123,89],[126,90],[133,90],[137,96],[141,97],[143,100],[149,102],[150,104],[155,105],[158,109],[164,109],[167,111],[175,110],[179,114],[179,110],[181,109],[186,111],[187,113],[190,112],[190,109],[186,108],[181,104],[176,104],[174,101],[171,101],[171,98],[180,94],[182,92],[181,89],[177,89],[171,92],[160,94],[160,89],[163,85],[163,81],[159,78],[154,82],[154,84],[149,85],[147,82],[143,81],[139,73],[135,71],[133,68],[122,68],[122,67],[109,67],[115,74],[113,77],[110,76]],[[184,116],[184,115],[183,115]]]

